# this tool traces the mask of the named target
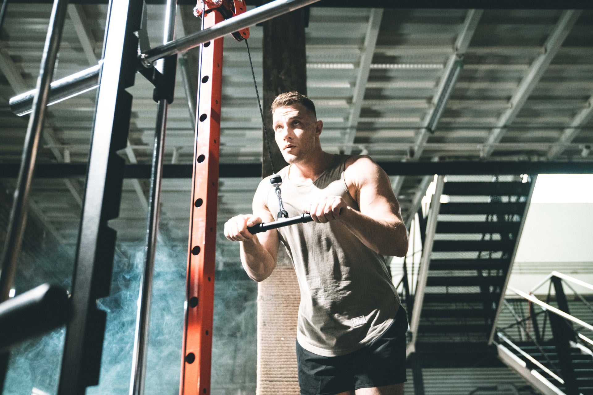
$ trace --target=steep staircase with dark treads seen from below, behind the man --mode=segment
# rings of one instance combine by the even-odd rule
[[[488,347],[534,184],[528,175],[438,177],[408,355]]]

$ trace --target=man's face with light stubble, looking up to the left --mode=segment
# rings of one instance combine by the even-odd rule
[[[284,160],[296,163],[307,158],[315,148],[315,139],[321,134],[323,123],[300,103],[276,108],[272,115],[276,144]]]

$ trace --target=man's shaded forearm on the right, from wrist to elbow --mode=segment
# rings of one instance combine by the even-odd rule
[[[352,207],[342,222],[368,248],[382,255],[404,256],[408,249],[406,226],[399,219],[373,219]]]

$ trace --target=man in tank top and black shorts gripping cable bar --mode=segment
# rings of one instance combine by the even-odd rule
[[[294,264],[299,287],[297,361],[302,395],[403,394],[406,313],[383,255],[404,256],[407,233],[387,174],[368,156],[321,149],[323,122],[297,92],[272,104],[273,131],[289,163],[282,200],[289,216],[315,223],[251,235],[248,226],[276,220],[278,198],[264,178],[253,214],[225,224],[240,242],[249,277],[263,281],[276,267],[279,243]]]

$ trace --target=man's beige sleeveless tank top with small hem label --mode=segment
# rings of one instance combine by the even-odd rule
[[[289,216],[303,213],[313,197],[341,196],[359,210],[344,181],[348,156],[336,155],[313,184],[300,185],[282,176],[282,200]],[[269,184],[268,179],[262,182]],[[278,216],[278,198],[270,185],[264,202]],[[378,338],[400,306],[385,258],[366,247],[340,221],[309,222],[278,229],[292,259],[299,288],[297,340],[302,348],[325,357],[348,354]]]

